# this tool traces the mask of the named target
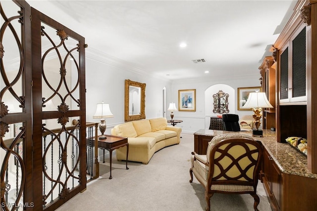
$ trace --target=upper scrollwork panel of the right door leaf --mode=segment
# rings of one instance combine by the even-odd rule
[[[79,109],[79,44],[64,30],[42,23],[43,111]],[[57,106],[58,105],[58,106]]]

